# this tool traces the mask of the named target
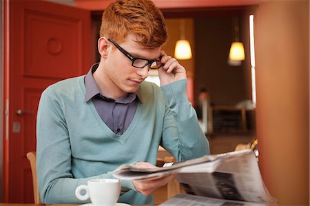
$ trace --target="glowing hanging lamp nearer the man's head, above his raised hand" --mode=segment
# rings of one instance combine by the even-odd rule
[[[185,19],[180,21],[180,40],[176,41],[176,49],[174,50],[176,59],[191,59],[192,49],[189,41],[185,40]]]

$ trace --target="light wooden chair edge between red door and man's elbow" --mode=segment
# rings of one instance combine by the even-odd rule
[[[34,204],[41,204],[38,182],[37,182],[37,163],[36,163],[37,155],[36,155],[36,152],[28,152],[27,158],[30,162],[30,167],[31,167],[31,172],[32,172]]]

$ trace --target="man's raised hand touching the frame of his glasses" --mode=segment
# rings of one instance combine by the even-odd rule
[[[161,50],[161,63],[164,63],[163,67],[158,69],[158,76],[161,81],[161,86],[167,85],[174,81],[186,79],[186,70],[183,68],[175,58],[167,56],[167,54]]]

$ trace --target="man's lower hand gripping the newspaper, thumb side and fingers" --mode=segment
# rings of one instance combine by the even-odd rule
[[[148,167],[148,168],[156,167],[151,163],[143,163],[143,162],[138,162],[136,163],[136,165],[139,167]],[[172,174],[161,178],[147,178],[143,180],[132,181],[132,183],[134,183],[134,187],[136,187],[136,190],[138,192],[141,192],[144,196],[147,196],[149,194],[152,194],[158,187],[166,185],[174,177],[175,176]]]

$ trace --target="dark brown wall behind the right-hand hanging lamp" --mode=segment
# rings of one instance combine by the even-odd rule
[[[240,18],[240,40],[247,40],[248,30]],[[234,105],[251,99],[249,45],[245,44],[246,61],[240,66],[228,65],[229,48],[233,40],[231,17],[209,17],[195,20],[196,30],[196,97],[202,87],[209,90],[211,103]],[[242,32],[245,30],[246,32]],[[245,36],[245,37],[243,37]]]

